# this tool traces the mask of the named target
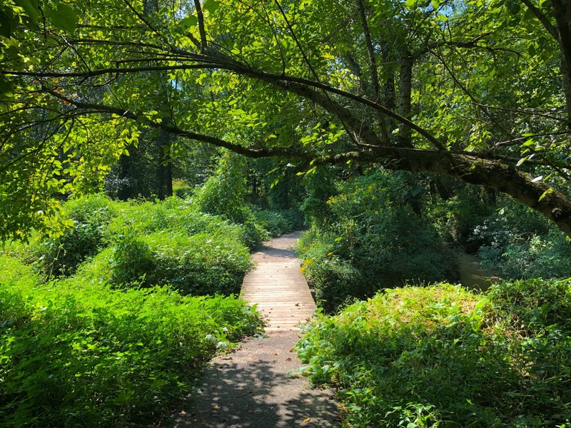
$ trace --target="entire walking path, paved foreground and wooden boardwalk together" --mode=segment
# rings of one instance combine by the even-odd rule
[[[252,255],[256,268],[244,278],[242,295],[263,311],[268,337],[214,358],[199,390],[173,414],[173,427],[340,427],[333,392],[310,388],[298,375],[302,363],[292,350],[300,337],[297,323],[315,310],[292,250],[298,237],[265,243]]]

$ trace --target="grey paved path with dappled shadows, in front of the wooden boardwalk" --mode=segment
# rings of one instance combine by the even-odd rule
[[[312,389],[299,377],[291,347],[297,332],[273,332],[216,357],[171,427],[340,427],[332,392]]]

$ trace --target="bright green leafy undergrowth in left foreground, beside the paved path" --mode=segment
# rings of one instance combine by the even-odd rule
[[[0,420],[6,427],[148,424],[217,349],[260,328],[234,297],[127,292],[81,277],[40,285],[0,259]]]

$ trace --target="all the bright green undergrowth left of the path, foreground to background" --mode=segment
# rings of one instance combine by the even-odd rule
[[[64,210],[64,235],[0,253],[2,427],[157,421],[216,352],[261,330],[233,295],[243,225],[180,198]]]

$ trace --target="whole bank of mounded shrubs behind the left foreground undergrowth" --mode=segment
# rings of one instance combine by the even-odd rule
[[[11,253],[56,277],[72,275],[83,262],[86,280],[170,284],[192,295],[236,293],[250,266],[243,226],[201,213],[190,200],[123,203],[94,195],[64,208],[75,221],[64,236]]]

